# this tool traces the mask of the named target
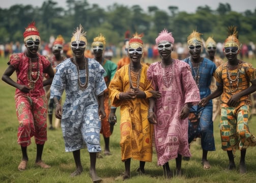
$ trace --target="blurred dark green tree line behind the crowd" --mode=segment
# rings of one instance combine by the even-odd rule
[[[168,5],[166,5],[168,6]],[[119,44],[127,30],[131,36],[143,33],[145,43],[155,43],[155,38],[163,28],[173,33],[176,42],[186,42],[188,35],[196,30],[206,40],[213,36],[216,42],[227,37],[227,27],[238,27],[241,43],[256,40],[256,8],[254,12],[232,11],[230,4],[219,3],[216,10],[205,5],[197,7],[195,13],[179,11],[176,6],[168,6],[168,11],[157,6],[144,11],[139,5],[131,7],[115,3],[108,7],[89,4],[87,0],[67,0],[66,9],[58,1],[45,1],[41,7],[14,5],[9,9],[0,8],[0,41],[23,41],[24,28],[35,21],[41,40],[48,42],[50,36],[62,35],[66,42],[79,24],[87,32],[88,42],[102,33],[108,44]]]

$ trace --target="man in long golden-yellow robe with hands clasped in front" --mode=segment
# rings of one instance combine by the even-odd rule
[[[119,69],[108,86],[111,105],[120,106],[121,154],[125,163],[123,179],[130,178],[131,158],[139,160],[139,173],[145,173],[145,162],[152,161],[153,125],[148,121],[151,82],[148,66],[140,62],[143,42],[139,35],[129,41],[130,64]]]

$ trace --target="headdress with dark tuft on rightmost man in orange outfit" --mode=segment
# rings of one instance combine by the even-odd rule
[[[227,37],[224,42],[224,48],[237,47],[238,49],[240,49],[240,42],[238,40],[237,27],[229,26],[228,32],[229,32],[229,37]]]

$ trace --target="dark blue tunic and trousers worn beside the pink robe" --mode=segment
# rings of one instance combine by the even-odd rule
[[[189,64],[192,76],[195,79],[198,68],[193,68],[190,57],[185,58],[183,61]],[[215,70],[216,65],[211,60],[204,58],[198,71],[200,78],[197,86],[200,90],[201,99],[211,94],[210,85]],[[195,113],[198,120],[194,123],[191,123],[191,121],[188,120],[188,142],[192,142],[196,137],[201,137],[201,145],[204,150],[215,150],[212,121],[212,100],[210,100],[205,107],[200,107],[198,105],[192,106],[190,112]]]

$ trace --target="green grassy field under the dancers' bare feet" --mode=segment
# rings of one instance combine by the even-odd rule
[[[116,61],[116,60],[115,60]],[[256,60],[248,60],[256,63]],[[149,61],[150,62],[150,61]],[[6,69],[7,59],[0,58],[0,75],[2,77]],[[254,65],[255,66],[255,65]],[[15,77],[13,77],[15,78]],[[27,148],[29,163],[27,170],[20,172],[17,167],[21,159],[21,150],[17,145],[17,127],[14,92],[15,88],[0,81],[0,182],[91,182],[89,176],[90,159],[87,149],[81,150],[81,162],[84,168],[83,173],[71,178],[69,175],[75,170],[75,163],[72,153],[65,153],[64,141],[60,129],[48,130],[48,140],[45,143],[43,160],[51,165],[50,169],[41,169],[35,166],[36,145],[34,139]],[[117,110],[118,120],[120,119],[119,109]],[[250,130],[256,134],[256,116],[252,116]],[[191,144],[192,158],[190,161],[182,162],[181,177],[174,177],[171,180],[163,176],[162,167],[157,166],[156,153],[154,149],[152,163],[146,163],[146,175],[138,175],[135,170],[139,165],[138,161],[131,161],[131,179],[124,182],[255,182],[256,155],[255,148],[247,150],[246,163],[247,173],[239,174],[240,152],[236,153],[237,169],[227,171],[228,159],[226,152],[221,150],[220,136],[218,130],[218,120],[214,121],[214,136],[216,151],[209,152],[209,161],[212,165],[210,170],[204,170],[201,164],[202,149],[198,142]],[[102,137],[102,136],[101,136]],[[119,124],[115,127],[110,137],[111,156],[103,156],[97,159],[98,175],[103,178],[103,182],[123,182],[120,174],[124,171],[124,163],[121,162],[121,149],[119,146],[120,129]],[[103,138],[101,138],[104,149]],[[170,168],[175,169],[175,160],[169,162]]]

